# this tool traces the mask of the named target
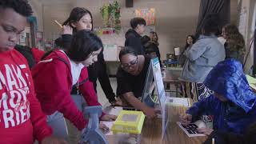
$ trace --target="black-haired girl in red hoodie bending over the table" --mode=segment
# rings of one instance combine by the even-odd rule
[[[70,97],[72,86],[78,86],[79,91],[89,106],[100,106],[92,83],[88,81],[88,74],[81,73],[86,66],[90,66],[98,60],[98,54],[102,50],[102,41],[95,34],[87,30],[80,30],[74,34],[72,48],[64,52],[54,50],[43,61],[32,69],[35,91],[42,110],[48,115],[48,122],[56,122],[56,119],[68,119],[78,128],[86,128],[88,120],[84,118],[82,111]],[[90,86],[91,85],[91,86]],[[102,114],[102,119],[112,118],[113,115]],[[60,134],[55,127],[54,134]]]

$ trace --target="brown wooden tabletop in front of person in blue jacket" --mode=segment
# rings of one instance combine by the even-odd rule
[[[190,102],[192,100],[190,99]],[[142,144],[199,144],[206,141],[206,137],[189,138],[185,132],[177,125],[179,114],[184,114],[187,108],[182,106],[167,106],[169,122],[166,128],[166,135],[162,139],[162,120],[145,119],[140,135]],[[106,137],[110,144],[115,143],[117,136],[111,135]]]

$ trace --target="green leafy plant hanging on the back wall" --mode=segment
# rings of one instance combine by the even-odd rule
[[[121,30],[121,21],[120,21],[120,6],[117,1],[110,4],[104,4],[101,7],[101,14],[103,25],[105,27],[113,27],[117,32]]]

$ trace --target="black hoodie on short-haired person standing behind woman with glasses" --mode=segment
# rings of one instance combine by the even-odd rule
[[[142,46],[141,38],[142,36],[140,34],[138,34],[135,30],[130,29],[126,32],[125,46],[130,46],[137,52],[137,54],[144,55],[145,52]]]

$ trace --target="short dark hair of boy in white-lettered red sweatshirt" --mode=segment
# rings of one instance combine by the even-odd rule
[[[7,8],[13,9],[24,17],[29,17],[33,13],[33,10],[27,0],[1,0],[0,10],[5,10]]]

